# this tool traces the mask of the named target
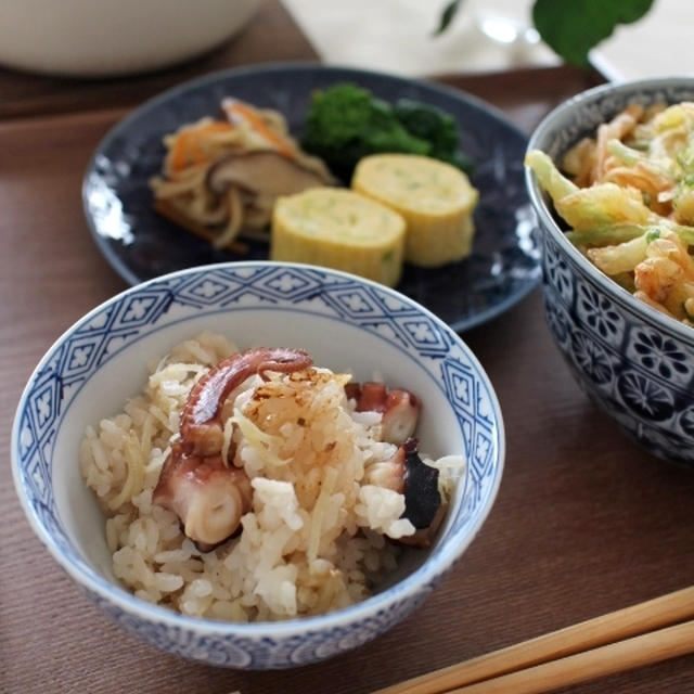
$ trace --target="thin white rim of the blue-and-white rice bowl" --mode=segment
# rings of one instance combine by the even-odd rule
[[[54,356],[56,349],[68,338],[81,325],[88,323],[98,313],[103,311],[108,306],[116,305],[130,296],[137,295],[143,291],[146,291],[151,285],[162,282],[170,281],[175,278],[182,278],[189,274],[203,274],[206,272],[215,272],[217,270],[224,270],[227,268],[237,270],[248,270],[257,267],[284,267],[292,268],[299,272],[305,271],[318,271],[325,275],[332,275],[342,278],[343,280],[350,280],[359,284],[365,284],[374,287],[380,292],[390,295],[400,301],[406,301],[410,307],[416,311],[424,313],[430,320],[433,320],[437,326],[444,330],[449,336],[452,337],[454,344],[462,348],[465,356],[470,359],[470,362],[477,370],[478,378],[481,380],[487,388],[490,403],[493,409],[494,424],[497,429],[497,468],[493,484],[489,490],[489,494],[486,503],[481,506],[478,517],[475,523],[470,527],[467,536],[463,542],[449,542],[446,552],[437,556],[436,561],[430,562],[425,560],[417,568],[403,579],[388,587],[381,593],[370,595],[365,600],[349,605],[347,607],[338,608],[333,612],[305,617],[293,617],[291,619],[278,620],[278,621],[255,621],[255,622],[231,622],[224,620],[215,620],[205,617],[192,617],[175,612],[170,608],[164,607],[158,604],[149,603],[140,597],[137,597],[129,590],[123,586],[112,582],[106,577],[102,576],[98,570],[88,566],[88,562],[83,561],[81,564],[75,564],[72,558],[65,556],[62,552],[59,543],[54,540],[51,532],[44,527],[41,519],[37,516],[31,504],[25,493],[24,484],[22,481],[21,472],[21,454],[20,454],[20,435],[21,435],[21,414],[27,407],[28,396],[31,393],[31,388],[36,382],[37,375],[41,372],[43,367]],[[233,309],[232,309],[233,310]],[[280,307],[281,310],[281,307]],[[197,266],[178,270],[168,274],[164,274],[141,284],[127,287],[123,292],[115,294],[114,296],[102,301],[77,321],[75,321],[69,327],[51,344],[40,361],[29,375],[26,386],[22,391],[22,396],[17,403],[15,411],[14,422],[11,433],[11,465],[12,476],[14,480],[15,491],[20,499],[24,515],[29,523],[29,526],[34,530],[35,535],[46,547],[52,557],[56,561],[67,574],[75,580],[75,582],[85,591],[90,591],[92,595],[99,596],[105,603],[110,603],[118,607],[125,614],[136,614],[139,618],[145,619],[150,622],[158,622],[165,625],[167,628],[185,628],[190,631],[194,631],[201,634],[215,634],[218,637],[224,635],[239,635],[247,637],[250,639],[259,640],[267,638],[268,631],[272,632],[272,637],[277,639],[285,639],[293,634],[306,633],[306,632],[319,632],[319,631],[332,631],[333,629],[339,629],[340,626],[354,622],[363,622],[370,616],[376,612],[388,611],[388,608],[408,602],[412,597],[415,597],[422,589],[425,589],[437,578],[441,577],[447,570],[449,570],[455,562],[461,557],[467,547],[475,539],[479,532],[481,526],[486,522],[489,513],[493,506],[496,498],[499,492],[501,479],[503,477],[504,463],[506,453],[506,437],[505,427],[503,423],[503,416],[499,399],[493,389],[491,380],[487,375],[487,372],[481,367],[480,362],[467,346],[467,344],[458,335],[448,324],[437,318],[428,309],[417,304],[408,296],[387,287],[385,285],[372,282],[364,278],[360,278],[347,272],[333,270],[329,268],[309,266],[306,264],[294,262],[280,262],[270,260],[247,260],[247,261],[231,261],[221,262],[208,266]],[[470,464],[470,461],[468,461]],[[465,485],[468,484],[470,476],[465,476]],[[79,554],[82,554],[81,549],[75,545],[75,549]],[[375,635],[375,634],[374,634]]]

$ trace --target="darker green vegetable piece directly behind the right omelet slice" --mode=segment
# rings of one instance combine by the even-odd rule
[[[472,159],[459,149],[458,124],[450,114],[411,99],[400,99],[394,106],[398,120],[411,134],[432,145],[429,156],[471,171]]]

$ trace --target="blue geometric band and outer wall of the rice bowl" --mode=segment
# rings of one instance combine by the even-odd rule
[[[151,331],[229,307],[291,307],[395,340],[427,369],[454,406],[468,458],[463,501],[432,560],[398,584],[346,611],[273,625],[189,618],[115,587],[73,544],[56,509],[52,449],[70,401],[114,355]],[[59,339],[29,381],[13,432],[15,483],[40,539],[112,619],[170,653],[234,668],[306,665],[346,652],[412,612],[472,541],[496,496],[504,458],[496,396],[474,356],[433,314],[380,285],[317,268],[236,262],[133,287]],[[76,452],[77,458],[77,452]],[[461,535],[463,534],[463,535]],[[461,537],[463,540],[461,540]],[[377,609],[374,609],[377,601]]]

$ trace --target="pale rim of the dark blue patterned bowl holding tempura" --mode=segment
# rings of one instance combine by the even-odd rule
[[[670,77],[650,77],[645,79],[632,79],[620,82],[608,82],[587,89],[570,99],[562,102],[548,113],[534,130],[526,152],[530,150],[544,151],[542,144],[548,134],[556,129],[556,126],[568,119],[571,113],[579,112],[591,104],[603,99],[608,94],[629,94],[639,92],[647,93],[656,89],[664,89],[668,86],[691,86],[694,92],[694,73],[687,75],[676,75]],[[526,167],[525,181],[528,190],[528,196],[535,211],[539,216],[539,228],[542,234],[549,232],[552,240],[560,246],[562,253],[566,255],[578,269],[588,277],[588,279],[600,286],[615,303],[626,308],[634,317],[639,317],[643,322],[655,323],[655,325],[666,333],[679,337],[684,342],[694,339],[694,329],[681,323],[677,319],[670,318],[637,299],[628,290],[624,288],[617,282],[608,278],[604,272],[599,270],[588,258],[586,258],[574,244],[566,237],[565,232],[556,223],[550,208],[548,207],[547,196],[540,189],[537,177]]]

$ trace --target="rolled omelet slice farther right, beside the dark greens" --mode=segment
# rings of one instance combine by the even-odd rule
[[[470,255],[479,193],[457,167],[414,154],[373,154],[357,165],[351,188],[404,218],[407,262],[436,268]]]

